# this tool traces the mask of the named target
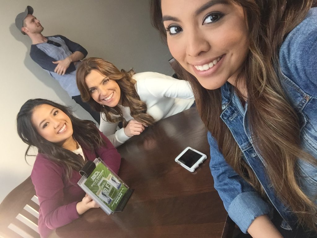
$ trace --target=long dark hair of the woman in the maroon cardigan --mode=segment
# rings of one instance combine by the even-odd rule
[[[100,136],[99,130],[94,122],[78,119],[73,115],[70,108],[41,98],[26,101],[16,117],[18,135],[22,141],[28,145],[25,152],[25,159],[30,147],[35,146],[38,149],[38,152],[45,155],[47,159],[64,166],[66,178],[69,179],[72,171],[79,171],[85,164],[85,161],[80,155],[77,155],[68,149],[64,149],[39,135],[31,122],[31,118],[34,109],[43,104],[48,104],[60,109],[70,118],[73,125],[73,136],[81,146],[94,151],[101,146],[106,146],[106,143]]]

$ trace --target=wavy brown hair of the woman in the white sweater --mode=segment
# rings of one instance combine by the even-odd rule
[[[109,77],[111,80],[115,80],[116,83],[118,83],[121,91],[120,99],[122,105],[128,106],[130,108],[131,116],[135,120],[144,123],[145,125],[154,124],[154,118],[146,113],[146,103],[140,100],[140,96],[135,89],[136,81],[132,78],[132,76],[134,75],[133,69],[128,72],[123,69],[121,69],[120,71],[112,63],[100,58],[91,57],[84,59],[77,69],[77,87],[84,102],[88,102],[97,112],[104,113],[108,122],[122,122],[123,127],[126,127],[126,119],[123,117],[122,111],[118,105],[115,107],[101,105],[98,102],[94,101],[94,99],[91,97],[85,79],[93,69],[97,70],[102,75]],[[114,115],[119,116],[114,117]]]

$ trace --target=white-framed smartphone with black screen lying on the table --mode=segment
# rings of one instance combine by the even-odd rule
[[[206,158],[207,155],[196,149],[187,147],[175,158],[175,162],[183,166],[188,171],[194,172]]]

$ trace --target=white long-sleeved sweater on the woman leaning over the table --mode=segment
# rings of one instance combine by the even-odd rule
[[[135,88],[141,101],[146,103],[147,113],[156,122],[189,109],[194,103],[191,86],[184,80],[155,72],[137,73],[133,79],[136,80]],[[127,122],[133,119],[129,107],[119,107]],[[103,113],[100,116],[99,129],[115,147],[130,138],[124,133],[124,128],[117,130],[118,123],[108,122]]]

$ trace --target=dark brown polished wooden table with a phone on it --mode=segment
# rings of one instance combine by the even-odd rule
[[[194,173],[174,161],[187,146],[208,155]],[[207,131],[196,108],[159,121],[118,151],[119,176],[134,189],[124,210],[108,216],[90,209],[50,237],[230,237],[232,222],[213,187]]]

